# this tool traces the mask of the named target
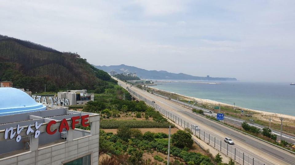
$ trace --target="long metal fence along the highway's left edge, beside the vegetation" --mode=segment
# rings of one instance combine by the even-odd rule
[[[243,165],[244,164],[265,165],[264,162],[262,162],[261,160],[255,159],[253,156],[250,156],[247,152],[235,148],[234,145],[229,145],[228,143],[224,141],[224,139],[214,137],[206,129],[201,129],[201,128],[196,129],[196,127],[193,126],[191,121],[186,121],[181,116],[163,107],[160,107],[159,105],[155,104],[155,102],[141,96],[140,94],[137,94],[133,90],[128,89],[128,91],[131,93],[133,97],[136,97],[137,99],[142,100],[148,105],[152,106],[159,113],[161,113],[163,116],[166,116],[175,124],[183,128],[189,128],[195,137],[201,139],[202,141],[206,142],[208,145],[224,153],[225,155],[233,159],[236,163],[243,164]]]

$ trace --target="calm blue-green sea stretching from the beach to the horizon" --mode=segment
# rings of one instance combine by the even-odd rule
[[[160,80],[157,80],[160,81]],[[295,116],[295,85],[283,82],[162,80],[155,87],[242,108]],[[221,84],[195,83],[219,82]]]

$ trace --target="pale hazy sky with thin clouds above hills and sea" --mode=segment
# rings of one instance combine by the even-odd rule
[[[295,1],[2,1],[0,34],[95,65],[295,82]]]

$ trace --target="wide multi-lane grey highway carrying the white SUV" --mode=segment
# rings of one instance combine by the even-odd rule
[[[126,85],[125,82],[119,81],[119,84],[126,88],[129,86],[128,84]],[[218,124],[216,122],[213,122],[209,119],[204,118],[203,116],[197,115],[191,110],[184,108],[180,105],[177,105],[175,103],[172,103],[171,101],[165,100],[162,97],[155,96],[153,94],[150,94],[146,91],[140,90],[136,87],[129,87],[130,90],[133,90],[136,92],[140,97],[144,97],[145,99],[148,99],[151,104],[151,100],[155,101],[156,103],[153,105],[156,108],[159,109],[160,112],[165,112],[167,115],[173,114],[173,118],[175,116],[175,121],[177,119],[182,119],[186,121],[185,124],[188,126],[190,125],[198,125],[200,129],[203,131],[206,131],[205,134],[205,140],[208,139],[208,134],[210,134],[210,137],[215,137],[219,140],[223,140],[224,137],[228,136],[232,138],[235,141],[235,145],[231,145],[231,149],[236,148],[238,151],[243,151],[245,152],[246,155],[250,157],[254,157],[255,162],[262,162],[259,164],[295,164],[295,156],[291,153],[288,153],[282,149],[276,148],[274,146],[269,146],[269,144],[263,142],[263,141],[254,141],[252,137],[248,135],[244,135],[241,133],[237,133],[236,131],[224,127],[221,124]],[[160,107],[160,108],[159,108]],[[162,110],[162,111],[161,111]],[[183,125],[183,123],[181,123]],[[204,138],[204,136],[200,137]],[[212,138],[210,142],[212,141]],[[226,148],[225,145],[223,144],[223,148]],[[250,147],[249,147],[250,146]],[[254,149],[254,150],[253,150]],[[231,151],[230,154],[233,152]],[[271,159],[274,158],[274,159]],[[277,161],[278,160],[281,160]],[[246,161],[246,163],[253,164],[252,161]],[[258,164],[258,163],[254,163]]]

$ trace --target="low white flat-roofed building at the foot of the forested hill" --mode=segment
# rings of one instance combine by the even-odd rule
[[[84,105],[88,101],[94,101],[94,94],[88,94],[87,90],[70,90],[69,92],[58,92],[57,98],[69,99],[69,105]]]

